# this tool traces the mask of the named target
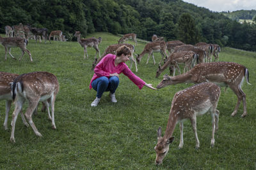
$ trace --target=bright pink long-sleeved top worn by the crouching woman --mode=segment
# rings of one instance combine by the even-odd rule
[[[90,89],[92,89],[93,80],[101,76],[106,76],[109,78],[109,74],[113,73],[124,73],[125,76],[127,76],[135,85],[139,87],[139,89],[142,89],[142,87],[145,85],[145,82],[134,73],[132,73],[131,69],[129,69],[129,67],[124,62],[121,62],[118,64],[118,66],[115,66],[115,59],[116,55],[109,53],[102,60],[100,60],[94,69],[94,74],[90,82]]]

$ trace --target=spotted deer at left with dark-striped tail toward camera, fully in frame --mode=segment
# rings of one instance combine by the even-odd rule
[[[13,111],[12,115],[12,134],[10,138],[13,143],[15,143],[14,131],[17,116],[26,100],[29,101],[29,105],[25,116],[36,136],[42,136],[42,134],[40,134],[40,132],[38,132],[36,129],[36,126],[32,120],[32,114],[40,101],[44,101],[48,108],[49,103],[47,102],[47,99],[51,99],[52,129],[56,129],[54,122],[54,102],[59,91],[59,83],[54,74],[40,71],[21,74],[15,78],[11,88],[12,98],[15,103],[15,110]]]

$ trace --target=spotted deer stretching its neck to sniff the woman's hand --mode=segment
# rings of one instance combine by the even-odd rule
[[[237,96],[236,108],[231,116],[234,117],[236,115],[239,105],[243,101],[244,112],[241,117],[245,117],[247,115],[246,94],[241,89],[244,77],[246,77],[246,82],[250,84],[248,69],[235,62],[200,63],[184,74],[173,77],[164,76],[156,88],[161,89],[166,85],[175,85],[177,83],[201,83],[208,81],[220,86],[230,87]]]

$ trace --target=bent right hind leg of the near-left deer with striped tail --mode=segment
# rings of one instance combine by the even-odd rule
[[[28,109],[26,110],[25,116],[28,119],[29,125],[32,127],[36,136],[41,137],[42,134],[40,134],[40,132],[38,132],[38,130],[36,129],[36,126],[33,122],[33,119],[32,119],[33,111],[35,110],[35,108],[39,102],[39,99],[40,99],[40,97],[38,97],[37,99],[33,99],[33,101],[29,100],[29,106],[28,106]]]

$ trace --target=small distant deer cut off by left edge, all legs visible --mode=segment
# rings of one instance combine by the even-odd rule
[[[31,57],[31,53],[26,48],[26,45],[28,45],[28,41],[25,38],[21,38],[21,37],[2,38],[0,36],[0,43],[5,48],[5,60],[7,60],[7,52],[11,55],[12,59],[15,59],[15,57],[13,57],[13,55],[11,54],[11,48],[15,47],[15,46],[19,46],[20,50],[22,51],[22,55],[20,56],[19,60],[21,60],[24,53],[26,52],[26,53],[28,53],[31,62],[33,61],[32,57]]]

